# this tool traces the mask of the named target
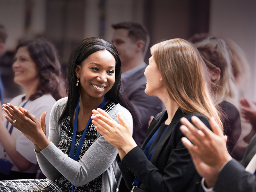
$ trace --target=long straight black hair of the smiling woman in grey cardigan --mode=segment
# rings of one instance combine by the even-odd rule
[[[121,88],[121,60],[119,58],[118,51],[116,47],[107,40],[96,37],[87,38],[78,43],[70,55],[67,66],[68,102],[65,110],[60,116],[59,124],[61,124],[62,120],[67,116],[72,118],[75,114],[76,105],[80,96],[79,88],[76,87],[76,65],[80,65],[82,61],[85,60],[89,55],[101,50],[107,50],[114,56],[116,60],[115,83],[106,93],[106,97],[108,100],[114,101],[115,103],[120,103],[122,106],[127,108],[132,114],[133,127],[140,128],[141,124],[139,117],[131,102],[124,95],[123,88]]]

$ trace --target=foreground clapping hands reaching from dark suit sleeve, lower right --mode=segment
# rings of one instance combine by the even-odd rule
[[[183,137],[181,140],[188,149],[197,172],[205,178],[207,187],[210,188],[214,186],[221,167],[232,159],[226,147],[227,136],[223,135],[213,117],[210,119],[213,132],[196,116],[192,116],[191,120],[198,129],[186,118],[181,118],[183,125],[180,130],[188,138]]]

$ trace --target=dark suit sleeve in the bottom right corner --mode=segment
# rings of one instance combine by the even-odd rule
[[[256,179],[232,159],[221,170],[213,188],[215,192],[256,192]]]

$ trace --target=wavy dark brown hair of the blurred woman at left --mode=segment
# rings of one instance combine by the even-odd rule
[[[36,63],[40,83],[36,92],[29,97],[35,100],[44,94],[51,94],[55,100],[61,99],[60,89],[63,85],[61,78],[60,62],[55,46],[44,38],[24,41],[20,47],[27,47],[31,59]]]

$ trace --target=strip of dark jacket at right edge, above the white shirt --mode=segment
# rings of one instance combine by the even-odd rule
[[[250,140],[250,143],[244,153],[244,157],[241,160],[241,164],[244,165],[244,167],[247,167],[247,165],[250,163],[255,153],[256,153],[256,134]]]

